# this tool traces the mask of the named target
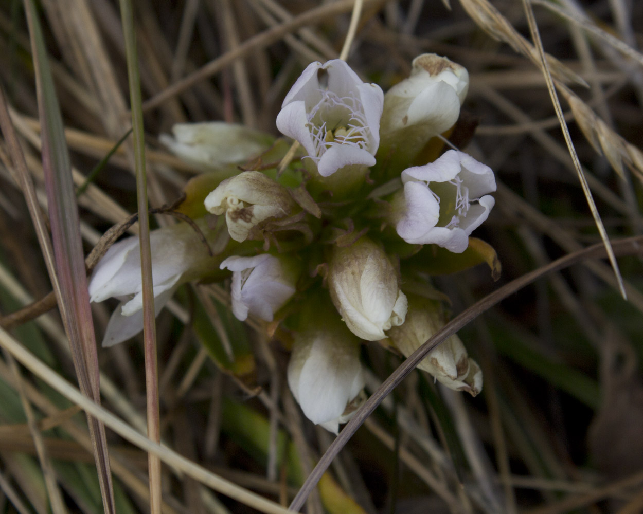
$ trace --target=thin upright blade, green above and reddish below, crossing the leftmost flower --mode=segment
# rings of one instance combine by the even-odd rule
[[[156,315],[152,285],[152,252],[150,250],[150,225],[147,216],[147,170],[145,164],[145,131],[141,110],[141,81],[136,51],[134,11],[128,0],[120,1],[120,10],[127,55],[127,76],[132,112],[134,137],[134,163],[136,166],[136,198],[138,202],[139,241],[141,251],[141,281],[143,290],[143,339],[145,345],[145,391],[147,396],[147,435],[155,443],[161,442],[159,415],[158,363],[156,355]],[[161,513],[161,460],[149,454],[150,511]]]

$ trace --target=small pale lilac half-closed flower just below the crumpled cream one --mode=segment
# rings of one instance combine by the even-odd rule
[[[240,321],[248,314],[273,321],[295,292],[298,269],[293,262],[264,253],[228,257],[221,269],[232,272],[232,312]]]

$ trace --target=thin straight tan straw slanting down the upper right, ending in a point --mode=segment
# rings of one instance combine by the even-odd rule
[[[590,206],[590,211],[592,211],[592,217],[594,218],[596,227],[599,230],[599,234],[601,235],[601,239],[603,241],[603,244],[605,245],[608,258],[610,259],[611,267],[613,268],[614,274],[616,275],[616,279],[619,283],[620,294],[624,299],[627,299],[628,295],[625,292],[625,286],[623,285],[623,278],[620,274],[619,263],[617,263],[616,257],[614,256],[614,252],[611,249],[610,238],[607,235],[607,232],[601,220],[601,215],[599,215],[599,211],[596,208],[596,204],[594,203],[594,199],[592,197],[592,191],[590,191],[590,186],[588,185],[587,179],[585,178],[585,174],[583,173],[583,168],[581,167],[581,161],[579,161],[578,159],[578,155],[576,154],[576,150],[574,148],[574,143],[572,142],[572,136],[570,136],[569,129],[567,128],[567,123],[565,121],[565,116],[563,116],[563,109],[561,109],[561,104],[558,101],[558,95],[556,94],[556,88],[554,87],[554,80],[552,79],[552,75],[550,73],[549,64],[547,62],[547,58],[545,55],[545,49],[543,48],[543,42],[540,39],[538,26],[536,26],[534,11],[531,8],[531,4],[529,3],[529,0],[523,0],[523,5],[525,6],[525,13],[527,14],[527,21],[529,22],[529,30],[531,31],[532,39],[534,39],[534,42],[536,42],[536,48],[538,48],[538,53],[540,54],[543,75],[545,75],[545,80],[547,81],[547,89],[549,91],[549,96],[552,99],[552,103],[554,104],[554,109],[556,110],[556,116],[558,117],[558,120],[561,123],[563,136],[565,136],[565,143],[567,143],[569,154],[572,156],[572,161],[574,161],[574,168],[578,175],[578,179],[581,182],[581,186],[583,187],[583,193],[585,195],[585,198],[587,199],[587,203]]]

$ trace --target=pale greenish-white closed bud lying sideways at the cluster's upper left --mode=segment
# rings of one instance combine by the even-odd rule
[[[159,139],[173,154],[210,168],[243,163],[271,144],[263,132],[224,121],[177,123],[172,134],[161,134]]]

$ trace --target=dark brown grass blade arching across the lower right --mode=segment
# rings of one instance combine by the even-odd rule
[[[617,240],[613,242],[612,248],[613,248],[613,251],[615,251],[618,254],[640,255],[642,244],[643,244],[643,236],[637,236],[633,238]],[[449,321],[449,323],[444,325],[444,327],[442,327],[438,332],[436,332],[433,335],[433,337],[431,337],[431,339],[424,342],[424,344],[422,344],[420,348],[415,350],[408,357],[408,359],[404,360],[404,362],[399,366],[399,368],[395,369],[395,371],[388,378],[386,378],[385,382],[383,382],[383,384],[379,387],[379,389],[377,389],[377,391],[374,394],[372,394],[372,396],[370,396],[370,398],[368,398],[368,400],[361,407],[359,407],[354,418],[352,418],[352,420],[350,420],[347,423],[347,425],[341,430],[340,435],[336,439],[334,439],[334,441],[332,441],[331,446],[328,448],[325,454],[323,454],[320,461],[312,470],[312,473],[309,475],[309,477],[307,477],[305,483],[300,488],[296,497],[294,497],[289,508],[295,511],[299,511],[302,508],[306,498],[311,493],[314,486],[316,486],[316,484],[318,483],[319,479],[321,478],[321,475],[323,475],[323,473],[331,465],[332,460],[341,451],[341,448],[343,448],[346,445],[346,443],[353,436],[353,434],[355,434],[355,432],[358,430],[358,428],[361,426],[364,420],[366,420],[366,418],[368,418],[368,416],[372,414],[372,412],[377,408],[377,405],[379,405],[382,402],[382,400],[384,400],[384,398],[386,398],[386,396],[388,396],[388,394],[393,389],[395,389],[395,387],[397,387],[397,385],[399,385],[399,383],[409,373],[411,373],[411,371],[413,371],[413,369],[415,369],[417,364],[419,364],[419,362],[422,359],[424,359],[424,357],[426,357],[426,355],[431,350],[433,350],[433,348],[438,346],[442,341],[447,339],[450,335],[453,335],[454,333],[458,332],[460,328],[462,328],[466,324],[476,319],[476,317],[478,317],[480,314],[482,314],[486,310],[489,310],[489,308],[496,305],[496,303],[511,296],[516,291],[529,285],[530,283],[536,281],[537,279],[542,278],[547,274],[559,271],[561,269],[565,269],[566,267],[574,265],[575,263],[578,263],[584,260],[604,258],[605,256],[606,256],[606,249],[602,244],[592,245],[578,252],[568,254],[555,261],[552,261],[546,266],[543,266],[539,269],[529,272],[521,276],[520,278],[517,278],[503,285],[503,287],[498,288],[493,293],[479,300],[474,305],[467,308],[467,310],[458,314],[455,318]]]

